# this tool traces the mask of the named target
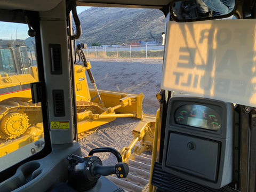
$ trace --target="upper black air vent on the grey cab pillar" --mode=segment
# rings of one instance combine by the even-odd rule
[[[62,74],[60,44],[50,44],[52,74]]]

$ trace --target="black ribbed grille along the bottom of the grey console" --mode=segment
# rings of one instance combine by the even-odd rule
[[[238,190],[230,187],[212,189],[210,187],[181,179],[176,175],[163,171],[162,164],[158,162],[155,162],[151,183],[160,190],[166,192],[238,192]]]

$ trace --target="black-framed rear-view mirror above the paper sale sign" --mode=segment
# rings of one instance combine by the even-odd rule
[[[236,11],[237,0],[174,1],[171,17],[177,22],[227,18]]]

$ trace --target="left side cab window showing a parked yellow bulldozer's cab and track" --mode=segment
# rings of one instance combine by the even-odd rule
[[[38,81],[34,38],[23,23],[0,22],[0,171],[44,147],[42,109],[32,103]],[[14,39],[15,37],[15,39]],[[33,50],[33,54],[31,51]]]

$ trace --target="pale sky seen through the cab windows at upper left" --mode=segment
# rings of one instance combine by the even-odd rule
[[[77,6],[77,14],[90,7]],[[0,21],[0,39],[26,39],[28,38],[28,26],[22,23],[9,23]]]

